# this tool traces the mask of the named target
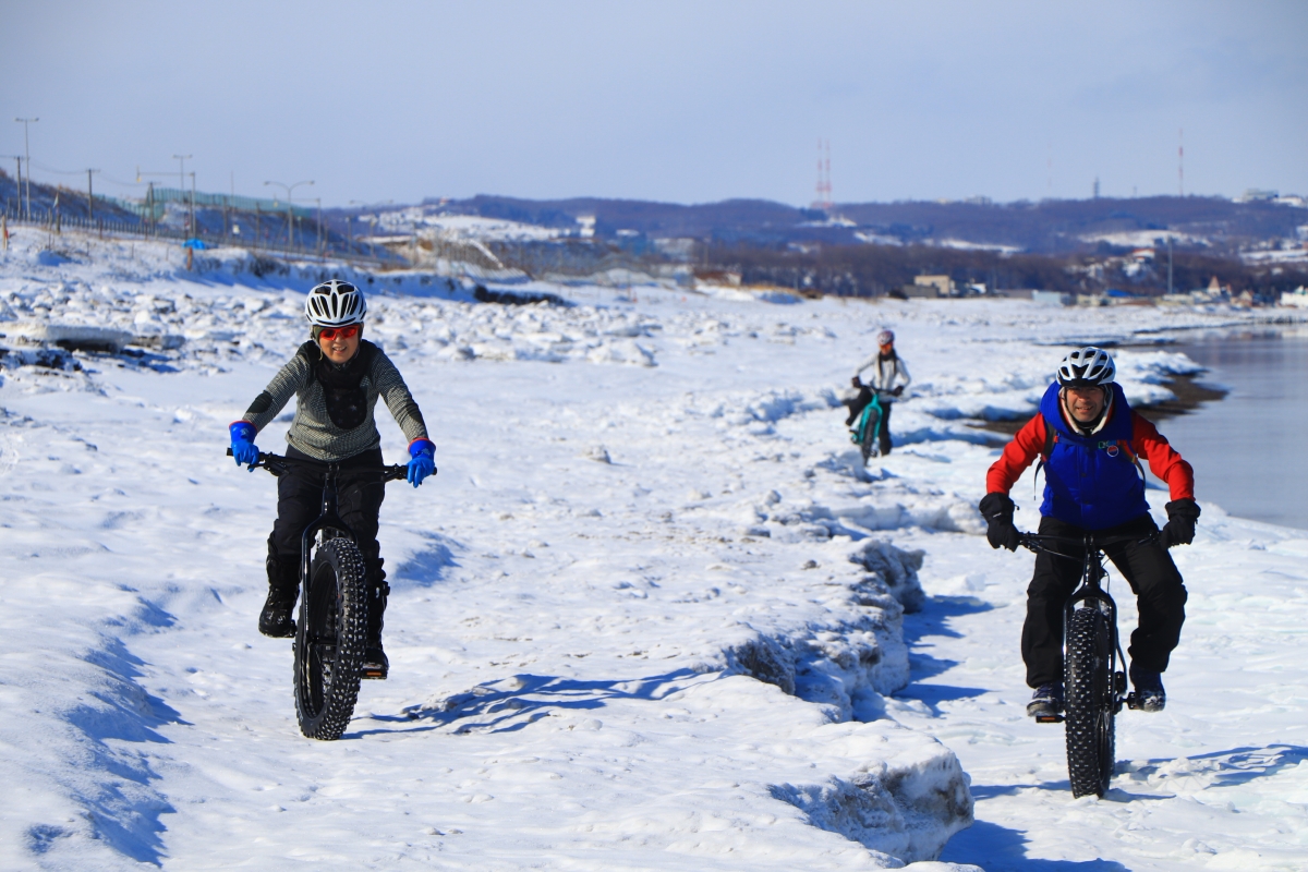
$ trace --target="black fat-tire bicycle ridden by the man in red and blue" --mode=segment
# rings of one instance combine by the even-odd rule
[[[1104,549],[1158,541],[1148,536],[1084,537],[1022,533],[1019,544],[1032,552],[1080,561],[1080,583],[1063,607],[1063,714],[1042,715],[1036,723],[1063,723],[1067,777],[1073,796],[1103,796],[1116,766],[1116,726],[1122,703],[1139,709],[1126,692],[1122,643],[1117,635],[1117,603],[1107,586]],[[1057,545],[1079,545],[1084,556],[1065,554]]]

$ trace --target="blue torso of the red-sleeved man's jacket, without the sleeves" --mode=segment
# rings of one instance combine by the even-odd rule
[[[1148,514],[1144,478],[1130,450],[1131,407],[1113,388],[1112,417],[1103,430],[1083,437],[1067,425],[1058,405],[1058,384],[1040,400],[1040,414],[1056,441],[1045,461],[1045,501],[1040,514],[1086,529],[1107,529]]]

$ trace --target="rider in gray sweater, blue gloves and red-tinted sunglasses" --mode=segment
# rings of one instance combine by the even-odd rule
[[[326,281],[305,299],[313,339],[300,346],[232,430],[237,464],[259,459],[255,435],[296,397],[296,417],[286,431],[286,456],[301,463],[277,480],[277,520],[268,536],[268,601],[259,631],[275,638],[296,634],[290,614],[300,590],[300,536],[322,510],[323,468],[340,464],[339,512],[364,554],[368,590],[368,637],[364,668],[387,672],[382,651],[382,614],[390,586],[377,544],[378,512],[385,484],[365,471],[382,465],[382,437],[373,408],[386,400],[409,441],[408,480],[417,488],[434,469],[436,447],[399,370],[377,345],[364,339],[368,305],[348,281]]]

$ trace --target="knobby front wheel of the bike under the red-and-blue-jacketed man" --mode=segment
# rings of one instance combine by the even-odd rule
[[[1113,777],[1117,706],[1110,672],[1112,631],[1093,601],[1067,625],[1063,663],[1067,775],[1073,796],[1103,796]]]

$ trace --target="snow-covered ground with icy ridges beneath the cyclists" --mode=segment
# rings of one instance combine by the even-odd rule
[[[1168,710],[1126,714],[1114,790],[1073,800],[1023,716],[1031,558],[976,512],[999,439],[969,420],[1028,414],[1059,344],[1249,314],[353,276],[441,472],[390,489],[391,679],[324,744],[255,631],[273,481],[224,456],[322,268],[181,263],[0,255],[4,868],[1308,868],[1303,533],[1198,471]],[[865,469],[838,396],[883,326],[916,382]],[[33,344],[95,329],[135,344]],[[1118,363],[1134,400],[1194,370]]]

